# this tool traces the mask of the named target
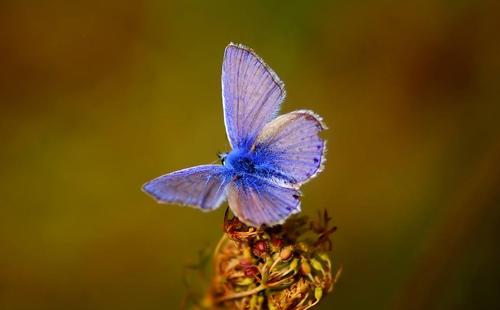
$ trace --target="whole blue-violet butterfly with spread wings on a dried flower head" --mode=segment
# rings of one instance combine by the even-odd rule
[[[245,224],[282,224],[300,209],[300,187],[325,161],[326,129],[320,116],[297,110],[277,116],[286,91],[255,52],[230,43],[222,64],[222,103],[231,151],[221,164],[200,165],[160,176],[143,191],[160,203],[218,208],[226,199]]]

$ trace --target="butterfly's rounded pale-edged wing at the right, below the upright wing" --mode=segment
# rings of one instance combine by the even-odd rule
[[[323,168],[326,145],[318,133],[324,129],[321,117],[314,112],[290,112],[266,124],[254,148],[271,153],[277,174],[298,186]]]

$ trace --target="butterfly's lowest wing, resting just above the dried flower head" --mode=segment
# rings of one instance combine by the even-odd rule
[[[228,185],[228,202],[242,222],[256,227],[281,224],[300,212],[298,190],[252,176],[243,176]]]

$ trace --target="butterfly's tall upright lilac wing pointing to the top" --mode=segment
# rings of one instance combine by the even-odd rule
[[[222,64],[224,122],[232,148],[250,147],[285,99],[283,82],[250,48],[229,44]]]

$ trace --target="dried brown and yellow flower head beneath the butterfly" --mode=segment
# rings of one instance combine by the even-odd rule
[[[326,211],[317,221],[290,218],[274,227],[250,227],[229,217],[213,256],[213,278],[195,308],[309,309],[330,292],[334,276]]]

